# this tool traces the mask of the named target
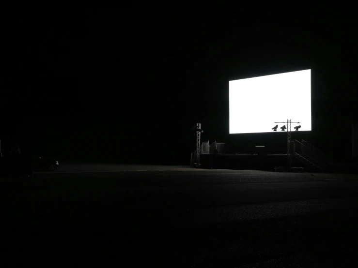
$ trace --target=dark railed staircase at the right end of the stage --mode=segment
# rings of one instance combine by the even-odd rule
[[[302,140],[295,140],[293,146],[293,155],[303,164],[306,164],[312,170],[324,171],[327,169],[327,156],[310,143]]]

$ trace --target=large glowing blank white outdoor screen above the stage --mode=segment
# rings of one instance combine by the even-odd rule
[[[311,70],[229,81],[230,134],[273,132],[287,119],[311,130]]]

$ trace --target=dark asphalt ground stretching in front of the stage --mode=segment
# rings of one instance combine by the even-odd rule
[[[357,267],[354,175],[68,164],[0,183],[0,267]]]

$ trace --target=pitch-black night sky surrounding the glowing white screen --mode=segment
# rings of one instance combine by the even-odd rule
[[[349,158],[356,31],[323,13],[9,12],[1,134],[60,160],[189,164],[201,122],[202,141],[275,153],[269,134],[228,134],[228,81],[311,68],[313,130],[299,138]]]

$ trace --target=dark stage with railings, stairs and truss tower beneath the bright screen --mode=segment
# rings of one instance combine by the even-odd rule
[[[280,122],[275,122],[280,123]],[[197,123],[196,150],[191,152],[190,165],[202,168],[259,169],[294,172],[297,170],[324,172],[329,167],[325,153],[305,140],[291,140],[291,120],[287,122],[286,153],[268,153],[265,146],[255,146],[255,153],[228,153],[227,144],[201,142],[203,130]]]

